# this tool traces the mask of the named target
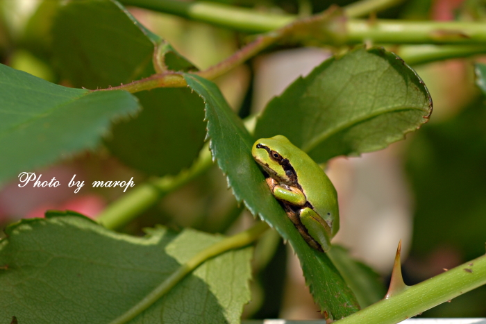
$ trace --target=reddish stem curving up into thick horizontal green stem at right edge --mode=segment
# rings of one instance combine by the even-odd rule
[[[459,47],[444,47],[442,51],[422,53],[421,58],[417,57],[417,62],[431,62],[451,56],[459,57],[471,53],[471,51],[482,51],[480,47],[483,47],[483,44],[486,42],[486,24],[477,22],[403,22],[393,20],[369,22],[359,19],[349,19],[346,22],[340,22],[340,19],[337,18],[335,12],[328,10],[321,15],[296,20],[296,22],[276,31],[260,35],[256,40],[247,44],[226,60],[204,71],[195,72],[195,74],[210,80],[214,79],[242,64],[242,62],[255,56],[271,44],[287,39],[298,41],[299,39],[305,40],[313,37],[315,41],[321,44],[334,45],[357,44],[368,41],[381,44],[428,43],[464,45],[462,49]],[[343,25],[341,26],[341,24]],[[154,74],[149,76],[149,78],[134,81],[133,83],[101,89],[100,91],[122,89],[133,93],[157,87],[184,87],[186,85],[184,78],[180,74],[167,71],[163,74]]]

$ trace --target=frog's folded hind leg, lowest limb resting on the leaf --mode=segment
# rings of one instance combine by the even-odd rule
[[[330,237],[332,237],[332,234],[326,221],[309,207],[304,207],[300,210],[299,218],[310,237],[317,241],[322,250],[324,252],[330,250]]]

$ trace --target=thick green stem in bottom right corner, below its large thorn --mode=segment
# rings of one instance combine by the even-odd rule
[[[486,284],[486,255],[410,286],[336,323],[399,323],[483,284]]]

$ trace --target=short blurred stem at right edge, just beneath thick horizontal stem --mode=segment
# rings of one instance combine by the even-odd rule
[[[403,45],[394,51],[408,65],[466,58],[486,53],[486,45]]]

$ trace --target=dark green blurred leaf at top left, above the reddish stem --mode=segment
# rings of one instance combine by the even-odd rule
[[[155,72],[160,37],[146,30],[117,1],[69,1],[52,27],[53,57],[75,87],[106,88]]]

